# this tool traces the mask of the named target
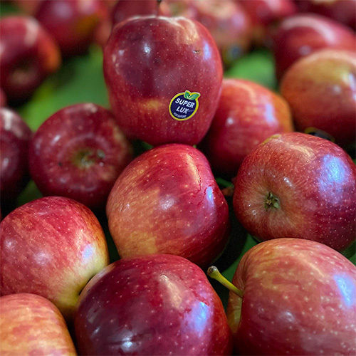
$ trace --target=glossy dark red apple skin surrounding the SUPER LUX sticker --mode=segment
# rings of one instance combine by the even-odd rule
[[[209,31],[182,17],[140,16],[118,23],[104,51],[104,76],[117,122],[127,137],[150,143],[197,144],[209,129],[222,80]],[[200,93],[188,120],[169,115],[185,90]]]

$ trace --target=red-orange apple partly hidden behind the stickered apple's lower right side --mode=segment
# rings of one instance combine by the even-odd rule
[[[214,120],[202,147],[214,171],[234,177],[259,143],[273,134],[293,131],[286,101],[261,85],[224,79]]]

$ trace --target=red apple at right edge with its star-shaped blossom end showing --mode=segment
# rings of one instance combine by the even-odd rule
[[[341,251],[356,236],[355,179],[355,164],[333,142],[300,132],[272,136],[241,164],[234,210],[258,239],[309,239]],[[279,207],[265,207],[270,192]]]

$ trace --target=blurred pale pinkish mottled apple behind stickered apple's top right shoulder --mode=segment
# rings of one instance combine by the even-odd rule
[[[226,66],[248,51],[251,45],[251,21],[234,0],[164,0],[174,16],[185,16],[202,23],[216,41]]]

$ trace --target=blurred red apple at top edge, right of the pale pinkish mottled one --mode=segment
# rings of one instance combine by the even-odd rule
[[[256,44],[266,43],[268,27],[297,12],[293,0],[239,0],[251,19]]]

